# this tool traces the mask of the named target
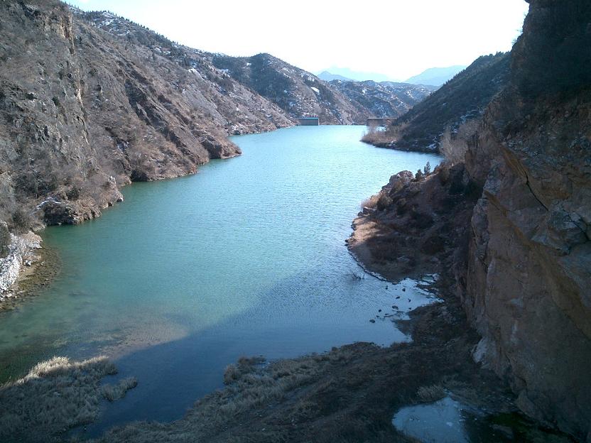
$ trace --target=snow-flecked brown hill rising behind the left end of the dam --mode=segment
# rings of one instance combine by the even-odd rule
[[[352,124],[364,123],[370,114],[310,72],[269,54],[252,57],[215,54],[212,63],[277,104],[289,116],[318,116],[323,124]]]

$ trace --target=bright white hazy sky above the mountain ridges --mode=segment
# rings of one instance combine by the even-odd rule
[[[308,71],[349,67],[398,80],[509,50],[528,9],[524,0],[69,1],[193,48],[270,53]]]

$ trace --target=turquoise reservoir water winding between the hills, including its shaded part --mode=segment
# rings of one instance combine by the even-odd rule
[[[173,420],[241,355],[407,340],[389,319],[369,319],[428,297],[410,280],[353,278],[361,270],[345,239],[360,202],[391,174],[439,158],[368,146],[363,131],[234,137],[240,157],[125,187],[125,202],[101,218],[46,229],[63,270],[42,295],[0,314],[2,381],[56,354],[107,354],[139,386],[100,426]]]

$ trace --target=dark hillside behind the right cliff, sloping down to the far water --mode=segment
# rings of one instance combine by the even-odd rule
[[[509,54],[477,58],[423,102],[403,114],[384,133],[369,133],[364,141],[403,151],[438,151],[446,129],[451,133],[482,115],[509,75]]]

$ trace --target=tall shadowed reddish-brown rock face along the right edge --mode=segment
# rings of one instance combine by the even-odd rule
[[[530,4],[511,84],[466,155],[484,192],[464,302],[483,337],[476,358],[509,378],[529,415],[588,441],[591,5]]]

